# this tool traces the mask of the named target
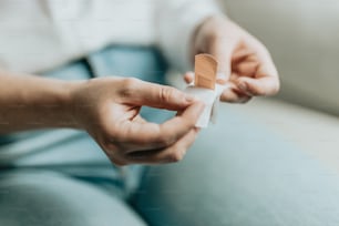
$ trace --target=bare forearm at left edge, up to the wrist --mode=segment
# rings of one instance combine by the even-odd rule
[[[0,72],[0,134],[43,127],[79,127],[71,91],[79,82]]]

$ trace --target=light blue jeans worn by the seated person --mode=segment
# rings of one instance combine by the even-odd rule
[[[165,70],[155,50],[112,47],[47,75],[163,83]],[[336,175],[240,112],[223,105],[219,116],[183,162],[163,166],[117,168],[89,135],[72,130],[2,138],[0,225],[338,225]]]

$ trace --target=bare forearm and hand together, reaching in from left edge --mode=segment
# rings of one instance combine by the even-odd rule
[[[178,112],[155,124],[147,105]],[[194,142],[203,103],[165,85],[137,79],[66,82],[0,73],[0,134],[45,127],[85,130],[116,165],[181,161]]]

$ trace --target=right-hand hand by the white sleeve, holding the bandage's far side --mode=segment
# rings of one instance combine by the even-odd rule
[[[274,95],[279,91],[279,78],[267,49],[253,35],[223,17],[209,18],[197,29],[193,39],[193,56],[209,53],[219,62],[220,84],[227,83],[220,100],[245,103],[256,95]],[[187,83],[194,80],[188,72]]]

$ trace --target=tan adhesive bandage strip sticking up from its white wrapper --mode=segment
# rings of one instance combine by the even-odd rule
[[[195,55],[195,81],[197,88],[215,89],[218,62],[210,54]]]

